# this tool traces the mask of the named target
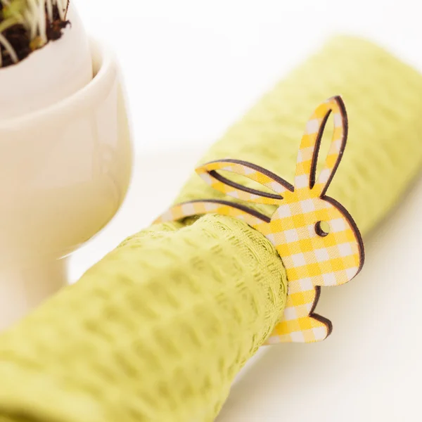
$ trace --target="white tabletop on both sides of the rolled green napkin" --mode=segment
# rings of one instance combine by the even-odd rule
[[[122,210],[73,255],[72,279],[165,210],[200,153],[136,160]],[[331,337],[262,348],[238,376],[218,422],[422,420],[421,215],[422,179],[366,239],[358,278],[322,290],[318,312],[333,321]]]

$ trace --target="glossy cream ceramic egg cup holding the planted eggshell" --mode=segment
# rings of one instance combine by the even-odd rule
[[[0,121],[0,328],[65,285],[65,257],[108,224],[129,186],[120,72],[108,49],[91,53],[84,88]]]

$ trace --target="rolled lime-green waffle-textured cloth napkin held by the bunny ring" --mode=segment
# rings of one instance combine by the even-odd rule
[[[328,194],[366,235],[422,163],[422,77],[369,42],[329,41],[201,162],[249,160],[292,181],[305,123],[335,94],[350,136]],[[193,176],[178,200],[210,197]],[[152,226],[0,336],[0,422],[211,422],[285,301],[281,259],[242,222]]]

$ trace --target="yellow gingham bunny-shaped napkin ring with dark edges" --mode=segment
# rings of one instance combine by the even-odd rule
[[[334,132],[323,170],[316,179],[316,161],[328,116]],[[295,186],[268,170],[239,160],[218,160],[196,172],[218,191],[246,202],[277,205],[271,217],[245,205],[225,200],[197,200],[175,205],[156,222],[217,213],[242,219],[275,246],[286,268],[286,309],[267,344],[311,343],[331,333],[331,322],[314,314],[321,286],[338,286],[356,276],[364,264],[362,236],[352,217],[326,196],[343,156],[347,140],[347,115],[340,96],[322,103],[307,122],[302,136]],[[242,186],[220,172],[242,174],[268,191]]]

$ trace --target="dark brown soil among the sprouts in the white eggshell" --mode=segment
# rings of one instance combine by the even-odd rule
[[[0,3],[0,22],[2,20],[2,4]],[[50,22],[46,14],[46,27],[47,27],[47,39],[49,41],[56,41],[60,39],[63,34],[65,27],[70,25],[68,20],[60,20],[60,15],[58,13],[58,8],[55,6],[53,9],[53,21]],[[15,49],[16,54],[18,55],[19,60],[27,58],[27,56],[32,53],[32,51],[37,50],[37,40],[31,40],[29,34],[23,27],[23,25],[14,25],[13,27],[8,28],[8,30],[3,32],[4,36]],[[0,45],[0,53],[3,59],[3,67],[13,65],[13,60],[9,56],[4,46]]]

